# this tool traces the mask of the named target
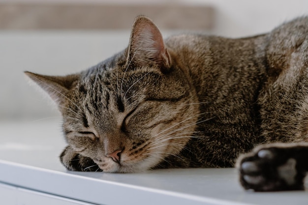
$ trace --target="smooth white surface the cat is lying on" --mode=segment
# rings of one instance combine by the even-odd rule
[[[295,205],[308,202],[307,191],[245,191],[235,169],[155,170],[137,174],[67,172],[58,159],[65,146],[59,125],[54,120],[0,123],[0,190],[20,187],[23,193],[34,191],[55,196],[57,200],[73,200],[76,204]],[[5,193],[0,192],[0,197],[5,199]],[[41,194],[31,197],[41,197]]]

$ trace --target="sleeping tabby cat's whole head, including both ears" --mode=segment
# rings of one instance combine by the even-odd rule
[[[69,146],[104,172],[140,172],[179,154],[194,134],[199,109],[184,70],[140,16],[118,55],[78,74],[26,74],[58,104]]]

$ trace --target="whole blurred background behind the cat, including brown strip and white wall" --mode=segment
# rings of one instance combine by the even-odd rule
[[[241,37],[308,15],[307,0],[0,0],[0,120],[59,117],[23,71],[65,75],[124,49],[134,17],[164,36]]]

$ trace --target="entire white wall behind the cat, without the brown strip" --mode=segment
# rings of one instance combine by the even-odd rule
[[[0,2],[153,3],[152,0],[0,0]],[[155,3],[213,5],[215,34],[238,37],[267,32],[308,15],[308,0],[156,0]],[[59,116],[48,99],[30,88],[22,71],[52,75],[76,72],[123,49],[129,31],[0,31],[0,118]]]

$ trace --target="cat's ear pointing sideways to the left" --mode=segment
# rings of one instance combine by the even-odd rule
[[[72,84],[78,80],[78,75],[47,76],[26,71],[25,74],[39,87],[45,90],[49,96],[59,105],[67,99],[66,94]]]

